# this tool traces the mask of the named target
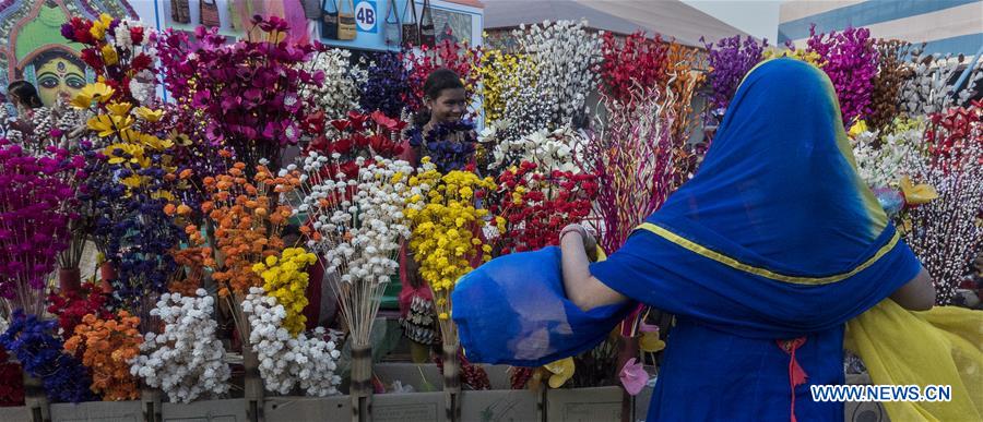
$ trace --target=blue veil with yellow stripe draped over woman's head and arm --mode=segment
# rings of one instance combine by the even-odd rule
[[[506,337],[520,333],[508,329],[513,325],[529,328],[532,310],[511,299],[523,287],[558,285],[552,291],[566,301],[558,261],[544,258],[549,253],[508,255],[460,280],[453,318],[469,357],[537,363],[514,359]],[[495,270],[528,261],[542,269],[511,277]],[[829,79],[793,59],[767,61],[745,77],[694,179],[607,261],[591,265],[595,278],[628,298],[763,339],[837,327],[920,269],[856,173]],[[492,290],[501,294],[484,294]],[[583,349],[585,338],[596,343],[605,333],[578,327],[616,323],[617,313],[601,311],[568,312],[576,335],[541,341],[541,350],[553,359],[565,347]]]

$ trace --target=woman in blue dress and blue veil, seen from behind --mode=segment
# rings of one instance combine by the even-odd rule
[[[671,312],[649,421],[843,420],[809,385],[843,384],[844,323],[889,297],[935,301],[856,173],[832,84],[792,59],[748,73],[697,174],[621,249],[591,264],[585,237],[463,277],[462,346],[540,365],[594,347],[629,300]]]

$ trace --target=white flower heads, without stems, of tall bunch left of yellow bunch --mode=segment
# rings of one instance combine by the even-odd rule
[[[320,241],[311,240],[308,246],[342,282],[387,282],[399,267],[400,241],[410,236],[403,205],[413,168],[406,161],[382,157],[366,166],[359,157],[357,180],[347,180],[343,173],[316,178],[330,161],[317,153],[304,159],[304,172],[318,180],[298,210],[311,216],[313,229],[321,234]]]

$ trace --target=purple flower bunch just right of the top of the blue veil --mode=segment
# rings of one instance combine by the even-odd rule
[[[864,120],[872,112],[871,94],[877,74],[879,55],[866,28],[849,27],[842,32],[817,34],[809,28],[808,50],[822,58],[822,71],[832,80],[840,99],[843,125]]]

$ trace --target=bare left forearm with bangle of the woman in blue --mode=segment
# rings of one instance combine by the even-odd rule
[[[584,311],[628,300],[591,276],[590,258],[585,250],[585,245],[589,244],[596,248],[593,239],[579,225],[567,226],[560,232],[564,289],[567,291],[567,298]]]

